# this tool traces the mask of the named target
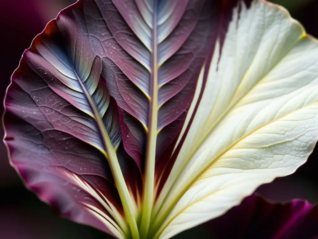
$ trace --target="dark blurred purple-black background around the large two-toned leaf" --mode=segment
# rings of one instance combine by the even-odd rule
[[[75,0],[0,0],[1,74],[0,98],[4,97],[10,76],[17,68],[24,49],[58,12]],[[318,0],[273,0],[286,7],[307,32],[318,38]],[[3,106],[0,106],[1,114]],[[3,130],[0,129],[0,138]],[[308,162],[291,176],[278,178],[259,187],[269,199],[294,198],[318,203],[318,147]],[[0,239],[100,239],[109,238],[93,228],[59,218],[50,207],[24,188],[10,167],[6,148],[0,143]],[[201,235],[200,235],[201,234]],[[192,229],[177,238],[203,238]],[[210,238],[205,236],[204,238]]]

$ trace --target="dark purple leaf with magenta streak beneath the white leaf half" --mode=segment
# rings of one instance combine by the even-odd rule
[[[216,238],[309,239],[318,235],[317,214],[318,207],[307,201],[274,204],[252,195],[201,228]]]

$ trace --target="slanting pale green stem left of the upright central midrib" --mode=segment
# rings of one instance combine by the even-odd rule
[[[75,70],[74,70],[74,72],[75,72]],[[112,141],[109,138],[109,135],[108,135],[107,130],[105,128],[104,122],[103,122],[102,118],[100,117],[100,114],[96,108],[95,102],[93,101],[92,97],[89,95],[85,85],[83,84],[83,82],[81,81],[81,79],[79,78],[79,76],[77,75],[76,72],[75,72],[75,74],[76,74],[78,81],[79,81],[79,84],[81,85],[81,87],[86,95],[86,98],[87,98],[87,100],[88,100],[88,102],[93,110],[97,126],[100,130],[101,138],[102,138],[102,141],[104,143],[105,150],[106,150],[105,156],[107,158],[107,162],[110,166],[110,170],[112,171],[112,174],[114,177],[115,185],[116,185],[116,188],[118,190],[128,224],[130,226],[131,235],[132,235],[133,239],[139,239],[138,227],[137,227],[136,219],[135,219],[135,216],[133,213],[132,199],[130,197],[124,176],[121,172],[121,168],[120,168],[120,165],[119,165],[119,162],[117,159],[116,151],[113,147]]]

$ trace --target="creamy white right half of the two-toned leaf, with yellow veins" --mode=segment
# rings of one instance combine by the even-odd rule
[[[241,2],[219,53],[218,42],[198,110],[157,200],[154,225],[175,206],[155,238],[216,218],[259,185],[294,173],[317,142],[318,42],[285,9]]]

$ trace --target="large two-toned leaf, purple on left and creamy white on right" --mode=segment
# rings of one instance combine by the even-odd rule
[[[12,164],[74,221],[169,238],[307,160],[317,53],[264,0],[79,0],[12,76]]]

